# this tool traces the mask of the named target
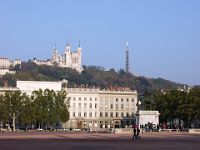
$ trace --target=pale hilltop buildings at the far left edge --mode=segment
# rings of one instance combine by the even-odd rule
[[[0,57],[0,76],[6,73],[14,74],[15,71],[10,71],[10,67],[15,67],[16,65],[21,66],[21,60],[15,59],[10,61],[8,58]]]

